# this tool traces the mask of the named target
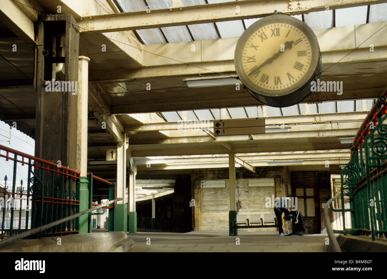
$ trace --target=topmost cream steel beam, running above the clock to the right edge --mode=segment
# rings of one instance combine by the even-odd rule
[[[244,0],[238,3],[225,2],[188,7],[172,7],[152,10],[151,12],[126,12],[110,15],[95,15],[84,17],[78,21],[81,30],[93,32],[116,32],[125,30],[150,29],[168,26],[183,26],[220,22],[238,19],[252,19],[272,15],[274,10],[279,14],[305,14],[329,9],[341,9],[375,3],[385,3],[386,0],[303,0],[290,2],[288,0]],[[236,10],[239,6],[239,11]],[[84,31],[85,32],[85,31]]]

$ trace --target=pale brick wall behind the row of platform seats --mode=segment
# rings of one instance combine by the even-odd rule
[[[257,173],[236,168],[236,200],[241,202],[238,214],[274,213],[265,207],[265,198],[286,196],[286,184],[291,183],[287,167],[256,168]],[[195,231],[228,231],[229,182],[228,168],[192,170],[192,196],[195,199],[193,227]],[[248,187],[248,179],[274,178],[274,187]],[[200,188],[200,180],[225,179],[225,188]],[[263,217],[263,216],[262,216]],[[286,225],[284,225],[286,229]],[[277,228],[251,228],[243,231],[277,231]]]

